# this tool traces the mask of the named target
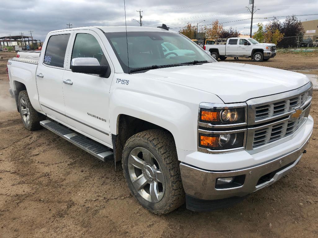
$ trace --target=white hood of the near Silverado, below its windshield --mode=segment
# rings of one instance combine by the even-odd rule
[[[226,62],[152,69],[138,76],[206,91],[225,103],[286,92],[310,81],[292,71]]]

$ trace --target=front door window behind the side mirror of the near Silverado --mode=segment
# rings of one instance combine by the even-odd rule
[[[105,55],[103,54],[103,51],[100,48],[100,44],[91,34],[76,34],[72,52],[72,59],[80,57],[94,57],[98,60],[100,65],[108,66],[108,62]]]

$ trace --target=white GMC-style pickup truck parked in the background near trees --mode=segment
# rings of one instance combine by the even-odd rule
[[[255,62],[269,60],[276,56],[276,45],[270,43],[259,43],[252,38],[229,38],[225,45],[205,45],[204,50],[209,51],[211,56],[218,60],[227,57],[252,58]]]

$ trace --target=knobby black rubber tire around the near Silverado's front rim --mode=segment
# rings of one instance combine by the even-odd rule
[[[129,174],[128,157],[134,149],[138,148],[147,149],[152,153],[156,159],[156,162],[159,163],[159,167],[161,168],[162,174],[164,175],[164,192],[162,192],[163,196],[158,202],[149,202],[142,195],[140,195],[137,189],[134,187],[130,177],[131,174]],[[139,154],[138,157],[140,157]],[[146,162],[143,162],[144,166]],[[185,193],[181,181],[176,145],[172,135],[169,132],[159,129],[151,129],[131,136],[123,148],[122,168],[131,194],[143,207],[147,208],[149,211],[155,214],[167,214],[184,204]],[[141,175],[139,175],[139,177]]]

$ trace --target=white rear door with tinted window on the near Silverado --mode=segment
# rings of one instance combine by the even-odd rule
[[[36,81],[39,102],[43,112],[58,121],[66,122],[63,97],[63,75],[66,72],[66,52],[70,47],[72,31],[51,33],[41,54]]]

